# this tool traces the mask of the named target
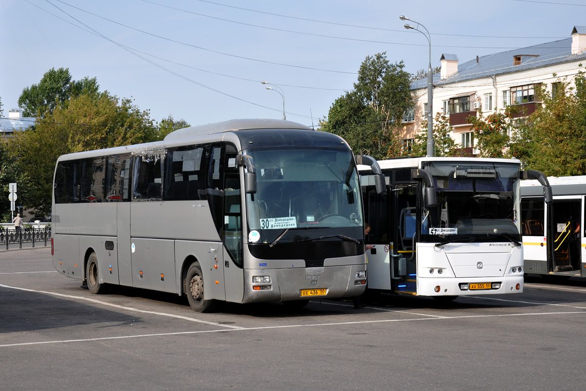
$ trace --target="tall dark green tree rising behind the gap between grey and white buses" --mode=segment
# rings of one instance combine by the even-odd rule
[[[386,53],[367,56],[354,89],[336,99],[321,130],[343,137],[355,153],[383,159],[401,142],[398,125],[413,107],[409,80],[403,62],[389,63]]]

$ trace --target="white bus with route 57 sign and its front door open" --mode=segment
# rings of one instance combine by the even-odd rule
[[[459,295],[523,291],[520,171],[516,159],[396,158],[379,161],[387,191],[359,166],[369,293],[454,300]],[[370,246],[368,246],[370,247]]]

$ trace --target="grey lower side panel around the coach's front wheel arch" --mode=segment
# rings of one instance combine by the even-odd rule
[[[226,300],[226,294],[224,293],[225,284],[222,247],[221,242],[193,242],[190,240],[175,241],[176,274],[179,277],[176,281],[178,292],[181,291],[181,284],[183,283],[181,276],[183,263],[189,257],[193,257],[199,261],[199,265],[202,268],[204,286],[203,298],[205,300]],[[212,251],[212,249],[217,251]],[[216,257],[218,260],[217,268],[214,268]],[[189,266],[189,264],[186,264],[186,267],[189,268]]]

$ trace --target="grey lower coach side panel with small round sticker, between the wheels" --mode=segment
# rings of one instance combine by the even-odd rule
[[[177,293],[173,240],[131,238],[135,288]]]

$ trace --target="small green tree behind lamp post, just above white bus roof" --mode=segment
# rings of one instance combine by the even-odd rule
[[[458,156],[456,142],[451,137],[454,128],[449,124],[449,117],[443,113],[435,113],[433,122],[434,156]],[[421,122],[421,130],[415,135],[415,142],[411,149],[413,156],[427,154],[427,120]]]

